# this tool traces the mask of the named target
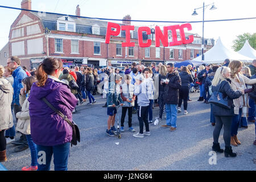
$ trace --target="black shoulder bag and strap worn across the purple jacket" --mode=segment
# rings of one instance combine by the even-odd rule
[[[79,131],[79,127],[76,125],[76,123],[74,121],[70,121],[68,119],[68,117],[66,115],[64,115],[63,113],[61,113],[61,111],[55,109],[55,107],[53,107],[47,100],[46,98],[42,98],[42,100],[44,102],[46,102],[46,104],[52,109],[54,110],[61,118],[63,118],[71,127],[72,127],[72,140],[71,140],[71,147],[72,147],[72,144],[74,146],[77,145],[77,142],[80,142],[80,131]]]

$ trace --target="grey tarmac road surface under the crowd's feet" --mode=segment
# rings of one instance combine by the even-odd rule
[[[70,148],[68,159],[69,171],[229,171],[256,169],[256,146],[254,123],[248,128],[238,130],[241,145],[232,149],[236,158],[225,158],[224,153],[212,155],[213,130],[210,118],[210,105],[197,101],[199,93],[190,93],[188,114],[184,115],[183,106],[177,117],[177,130],[169,131],[160,125],[150,124],[150,136],[133,137],[128,131],[127,115],[125,133],[118,137],[106,135],[107,119],[106,99],[96,96],[96,103],[77,106],[73,120],[80,129],[81,142]],[[121,109],[119,110],[121,118]],[[165,114],[164,114],[165,115]],[[159,116],[159,107],[153,110],[153,118]],[[155,120],[155,119],[154,119]],[[15,122],[16,123],[16,122]],[[115,126],[116,123],[115,123]],[[137,114],[133,114],[133,127],[139,131]],[[19,135],[19,134],[18,134]],[[18,136],[17,135],[17,136]],[[225,148],[221,131],[219,142]],[[14,152],[13,144],[7,145],[8,161],[2,163],[9,171],[20,171],[31,162],[30,150]],[[51,170],[54,170],[53,160]]]

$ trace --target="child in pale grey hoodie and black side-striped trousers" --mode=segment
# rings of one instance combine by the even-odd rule
[[[149,125],[148,125],[148,106],[150,104],[150,100],[148,98],[148,85],[147,82],[144,81],[142,75],[138,75],[136,78],[136,83],[134,86],[134,95],[138,98],[138,120],[139,120],[139,133],[134,134],[133,137],[143,138],[144,135],[150,135]],[[146,131],[143,132],[143,122],[146,127]]]

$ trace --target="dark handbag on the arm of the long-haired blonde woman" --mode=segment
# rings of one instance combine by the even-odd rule
[[[231,109],[231,106],[228,105],[228,96],[223,98],[223,94],[220,92],[221,85],[222,84],[219,85],[217,92],[212,93],[212,96],[210,96],[208,102],[220,107],[224,107],[225,109]]]

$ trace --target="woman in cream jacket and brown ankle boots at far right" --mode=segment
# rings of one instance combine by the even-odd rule
[[[246,89],[246,85],[256,84],[255,79],[249,79],[241,73],[243,63],[241,61],[234,60],[229,63],[229,68],[231,70],[231,86],[233,90],[244,90]],[[246,92],[245,92],[246,93]],[[249,108],[249,99],[247,94],[243,94],[237,99],[234,99],[234,117],[232,120],[231,126],[231,140],[230,143],[233,146],[237,146],[241,144],[240,140],[237,138],[237,131],[239,127],[239,121],[241,117],[247,116],[247,111]]]

